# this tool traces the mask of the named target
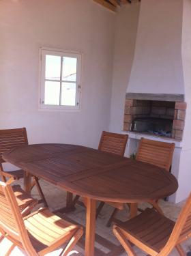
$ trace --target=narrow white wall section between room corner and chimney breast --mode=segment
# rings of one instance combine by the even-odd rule
[[[123,128],[124,105],[134,58],[139,8],[140,3],[127,4],[117,13],[110,119],[112,132],[121,132]]]

